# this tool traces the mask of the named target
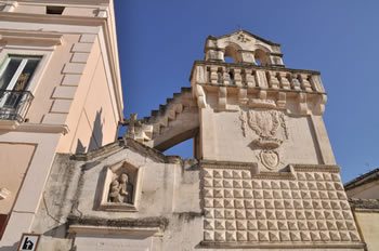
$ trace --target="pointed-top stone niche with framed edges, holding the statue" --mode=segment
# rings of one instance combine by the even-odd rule
[[[105,167],[100,210],[138,211],[142,169],[122,161]]]

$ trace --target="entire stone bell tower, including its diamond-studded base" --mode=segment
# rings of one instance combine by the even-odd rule
[[[323,121],[318,71],[248,31],[208,37],[198,106],[202,246],[362,250]]]

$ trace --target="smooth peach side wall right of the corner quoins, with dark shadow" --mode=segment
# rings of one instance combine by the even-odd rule
[[[88,151],[116,137],[120,118],[112,102],[114,97],[109,89],[112,82],[106,75],[107,62],[96,37],[87,57],[66,120],[70,131],[62,137],[58,153]]]

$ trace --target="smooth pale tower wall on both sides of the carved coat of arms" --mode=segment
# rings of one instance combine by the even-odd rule
[[[204,159],[257,161],[260,148],[256,147],[252,141],[258,136],[254,132],[248,134],[248,129],[243,130],[240,113],[214,111],[217,104],[212,104],[212,97],[208,98],[210,106],[213,107],[201,110]],[[321,116],[285,115],[285,121],[288,138],[282,136],[283,144],[278,148],[279,168],[289,163],[336,164]],[[323,131],[316,131],[316,129],[323,128]],[[246,135],[244,135],[244,131]]]

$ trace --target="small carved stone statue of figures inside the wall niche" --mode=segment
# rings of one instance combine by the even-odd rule
[[[114,203],[132,203],[133,185],[127,173],[121,173],[109,186],[108,201]]]

